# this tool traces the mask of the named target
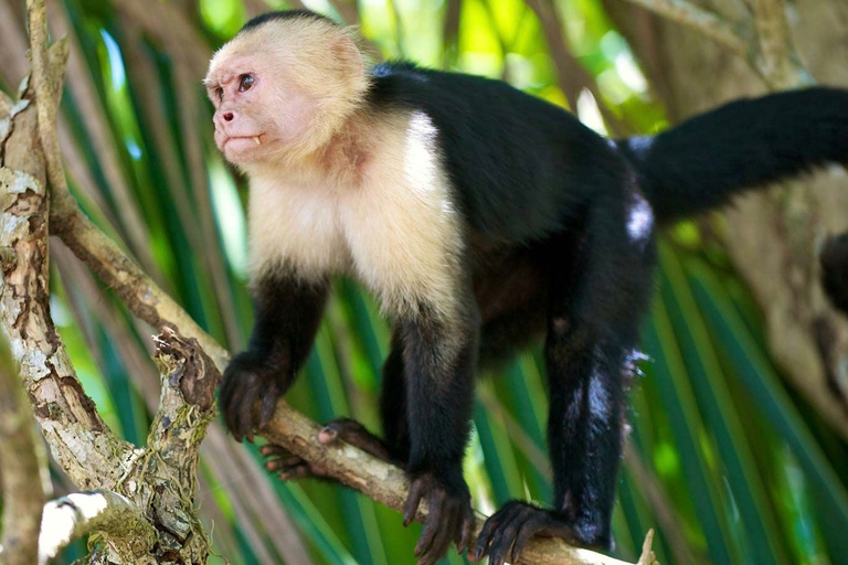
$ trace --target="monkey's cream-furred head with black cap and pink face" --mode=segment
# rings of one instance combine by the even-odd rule
[[[239,166],[296,160],[321,148],[368,89],[362,54],[347,30],[307,11],[247,22],[212,57],[203,82],[215,106],[215,145]]]

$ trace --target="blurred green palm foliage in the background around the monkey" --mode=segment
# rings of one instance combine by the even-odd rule
[[[178,42],[188,50],[199,39],[210,54],[258,3],[168,2],[197,31],[197,38]],[[244,180],[212,143],[211,107],[200,84],[204,68],[191,68],[186,77],[181,55],[151,30],[139,31],[117,4],[62,6],[83,55],[83,76],[70,82],[89,88],[66,88],[63,102],[80,160],[78,168],[68,168],[73,190],[104,230],[235,351],[252,317]],[[339,19],[332,2],[307,6]],[[579,93],[572,109],[602,131],[616,130],[610,120],[629,132],[666,127],[662,108],[602,3],[551,6],[565,22],[569,53],[586,72],[584,85],[558,76],[542,25],[522,0],[361,0],[357,8],[361,30],[381,57],[505,77],[560,105],[569,99],[562,84],[570,84]],[[445,18],[456,7],[451,32]],[[664,236],[660,259],[644,329],[645,376],[632,393],[615,555],[635,561],[654,527],[662,563],[848,563],[845,445],[781,382],[764,349],[760,313],[720,246],[703,242],[695,224],[681,224]],[[150,330],[67,252],[60,249],[56,267],[53,312],[85,388],[113,429],[142,443],[150,417],[142,394],[142,375],[152,371]],[[339,281],[290,403],[317,420],[351,415],[378,429],[386,333],[372,298]],[[475,504],[488,513],[511,498],[549,500],[538,349],[501,374],[486,375],[478,388],[466,461]],[[248,449],[258,466],[257,450]],[[212,472],[230,465],[203,460],[201,498],[219,555],[213,562],[286,562],[275,524],[263,525],[263,515],[231,493],[233,481],[254,479],[235,469],[234,479],[220,482]],[[285,508],[316,563],[412,562],[418,529],[404,530],[396,513],[325,483],[271,484],[278,498],[271,503]],[[464,558],[451,555],[447,562]]]

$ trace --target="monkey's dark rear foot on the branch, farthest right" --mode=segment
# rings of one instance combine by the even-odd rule
[[[562,537],[581,543],[564,516],[526,502],[513,500],[495,512],[477,536],[474,561],[489,556],[489,565],[516,563],[531,537]],[[582,543],[581,543],[582,545]]]

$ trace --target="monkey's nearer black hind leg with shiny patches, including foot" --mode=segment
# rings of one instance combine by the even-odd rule
[[[552,508],[507,503],[484,525],[476,559],[515,563],[534,535],[612,545],[626,392],[654,264],[650,234],[630,237],[626,212],[596,207],[576,256],[551,281],[544,356]]]

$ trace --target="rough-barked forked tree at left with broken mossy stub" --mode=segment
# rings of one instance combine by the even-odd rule
[[[194,340],[166,333],[160,407],[148,446],[136,449],[99,418],[50,317],[45,186],[50,179],[64,188],[55,111],[67,49],[60,42],[47,53],[43,3],[28,8],[33,75],[19,102],[0,104],[0,327],[54,458],[77,487],[97,489],[45,508],[40,559],[97,531],[93,563],[205,563],[193,498],[200,440],[214,416],[214,363]]]

